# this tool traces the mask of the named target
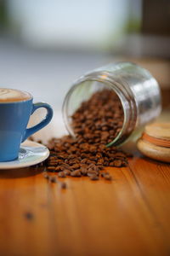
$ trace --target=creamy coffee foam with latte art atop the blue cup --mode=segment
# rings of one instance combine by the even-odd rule
[[[0,103],[24,102],[31,99],[31,94],[22,90],[0,88]]]

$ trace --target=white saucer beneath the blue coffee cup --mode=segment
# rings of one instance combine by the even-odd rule
[[[17,160],[0,162],[0,169],[16,169],[26,166],[34,166],[46,160],[49,150],[39,143],[26,141],[20,145],[19,158]]]

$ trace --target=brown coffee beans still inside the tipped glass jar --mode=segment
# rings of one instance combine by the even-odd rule
[[[122,103],[113,90],[100,90],[72,115],[72,129],[87,143],[111,143],[122,129]]]

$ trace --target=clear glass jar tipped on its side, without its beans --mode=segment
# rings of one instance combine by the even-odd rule
[[[86,73],[71,86],[63,103],[66,129],[74,137],[71,115],[97,90],[114,90],[122,102],[123,125],[107,146],[127,142],[141,128],[161,113],[161,93],[156,79],[143,67],[132,62],[116,62]]]

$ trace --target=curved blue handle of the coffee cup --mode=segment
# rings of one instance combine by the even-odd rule
[[[48,103],[44,103],[44,102],[33,103],[31,114],[34,113],[37,110],[37,108],[46,108],[47,114],[46,114],[45,118],[42,119],[42,121],[39,124],[26,129],[25,135],[22,138],[22,143],[27,139],[27,137],[30,137],[33,133],[41,130],[44,126],[48,125],[48,123],[53,118],[53,109],[51,108],[50,105],[48,105]]]

